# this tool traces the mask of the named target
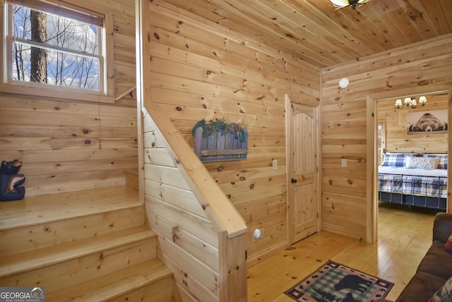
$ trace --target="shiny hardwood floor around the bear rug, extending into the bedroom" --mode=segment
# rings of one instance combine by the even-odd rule
[[[248,269],[248,301],[294,301],[284,291],[331,259],[394,283],[396,300],[432,243],[436,211],[379,205],[379,242],[321,231]]]

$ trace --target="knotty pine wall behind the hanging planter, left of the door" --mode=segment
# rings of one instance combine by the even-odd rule
[[[205,166],[246,221],[250,265],[287,246],[285,94],[318,104],[320,70],[210,22],[203,16],[214,10],[202,2],[148,2],[145,107],[158,106],[155,112],[169,116],[192,147],[200,119],[225,118],[248,129],[246,160]],[[256,228],[265,236],[253,243]]]

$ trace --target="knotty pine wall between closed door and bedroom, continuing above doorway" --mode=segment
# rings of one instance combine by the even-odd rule
[[[447,91],[452,86],[451,54],[452,35],[444,35],[322,70],[324,230],[368,239],[367,162],[374,160],[367,158],[373,140],[367,137],[367,116],[374,115],[371,104],[376,99]],[[340,78],[348,78],[350,85],[341,89]],[[341,167],[343,157],[347,167]]]

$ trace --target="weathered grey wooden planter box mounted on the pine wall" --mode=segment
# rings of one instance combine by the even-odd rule
[[[203,135],[203,128],[198,127],[194,133],[194,150],[201,162],[217,162],[225,160],[246,159],[248,153],[248,131],[244,130],[245,138],[241,141],[234,133],[213,133],[208,137]]]

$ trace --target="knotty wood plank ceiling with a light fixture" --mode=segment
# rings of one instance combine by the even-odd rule
[[[155,1],[157,2],[157,1]],[[452,0],[165,0],[319,68],[452,32]]]

